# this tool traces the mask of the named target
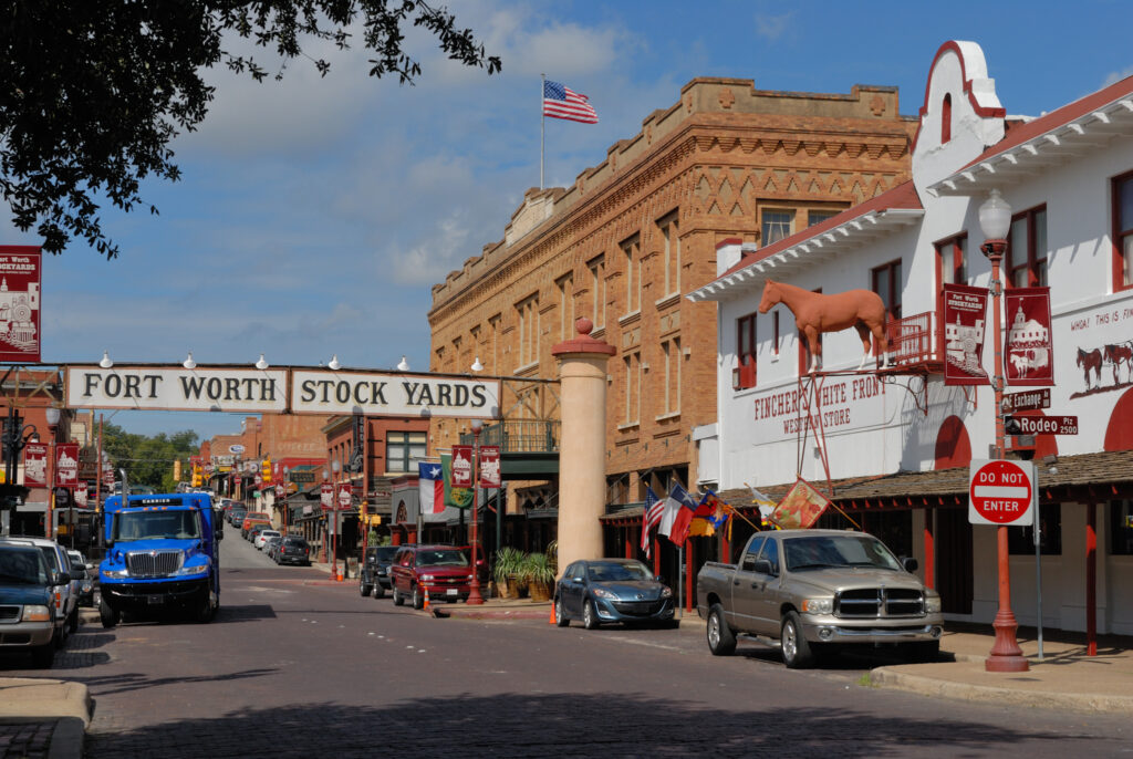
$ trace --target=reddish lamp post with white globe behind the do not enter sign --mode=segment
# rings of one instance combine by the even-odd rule
[[[991,389],[995,392],[995,458],[1003,459],[1006,452],[1003,424],[1003,327],[999,319],[999,298],[1003,295],[1000,264],[1007,249],[1007,232],[1011,230],[1011,206],[993,189],[990,197],[980,206],[980,229],[983,231],[983,245],[980,250],[991,262],[991,335],[995,355],[995,376]],[[1019,622],[1011,611],[1011,562],[1007,554],[1007,528],[1003,525],[996,528],[996,543],[999,564],[999,609],[996,612],[991,626],[995,629],[995,642],[983,663],[988,672],[1026,672],[1030,665],[1023,656],[1015,639]]]

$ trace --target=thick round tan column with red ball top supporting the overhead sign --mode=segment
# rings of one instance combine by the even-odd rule
[[[616,351],[590,336],[588,318],[578,335],[554,346],[559,359],[562,438],[559,445],[559,571],[580,558],[600,558],[606,508],[606,365]]]

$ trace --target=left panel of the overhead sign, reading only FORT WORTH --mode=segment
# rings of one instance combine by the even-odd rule
[[[279,412],[287,408],[287,370],[69,366],[67,406],[73,409]]]

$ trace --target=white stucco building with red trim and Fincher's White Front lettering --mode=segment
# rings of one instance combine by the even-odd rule
[[[1008,438],[1010,455],[1039,462],[1042,622],[1087,630],[1096,592],[1097,630],[1133,634],[1133,382],[1117,350],[1133,347],[1133,78],[1039,118],[1007,116],[979,45],[948,42],[919,118],[911,181],[764,248],[723,244],[718,278],[688,296],[718,304],[718,423],[699,432],[701,457],[716,460],[704,471],[733,501],[746,484],[781,494],[796,477],[833,483],[841,509],[919,557],[949,619],[990,622],[995,530],[968,523],[966,487],[969,461],[995,442],[994,398],[987,384],[944,384],[949,351],[963,360],[961,343],[978,335],[946,330],[939,308],[943,283],[989,287],[978,210],[998,189],[1013,213],[1004,285],[1050,285],[1054,355],[1030,357],[1054,365],[1046,413],[1080,420],[1077,435]],[[809,380],[792,313],[758,313],[769,279],[878,292],[896,367],[855,372],[862,348],[849,330],[824,336]],[[1037,329],[993,315],[990,301],[987,318],[1005,338]],[[755,325],[753,386],[733,382],[750,360],[738,355],[741,323]],[[990,322],[976,332],[990,377]],[[1033,625],[1036,556],[1012,531],[1012,605]]]

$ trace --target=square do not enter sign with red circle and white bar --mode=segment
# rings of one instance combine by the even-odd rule
[[[1038,494],[1034,462],[972,461],[968,480],[968,521],[972,525],[1033,525]]]

